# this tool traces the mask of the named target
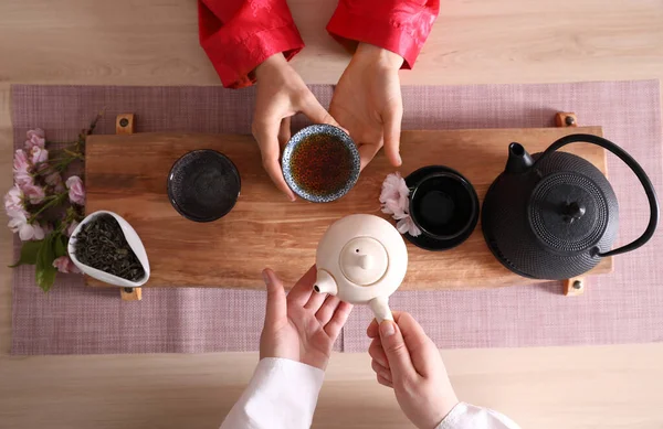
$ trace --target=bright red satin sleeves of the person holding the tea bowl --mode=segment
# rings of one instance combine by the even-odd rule
[[[411,68],[438,17],[439,0],[340,0],[327,31],[348,47],[370,43],[396,52]],[[223,86],[241,88],[275,53],[304,47],[285,0],[198,0],[200,44]]]

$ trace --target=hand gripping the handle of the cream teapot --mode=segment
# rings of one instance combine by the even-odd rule
[[[373,320],[368,353],[378,383],[392,387],[406,416],[420,429],[433,429],[459,403],[435,344],[417,321],[393,312],[396,321]]]

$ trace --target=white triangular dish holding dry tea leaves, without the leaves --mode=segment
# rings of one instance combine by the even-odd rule
[[[78,259],[76,259],[76,251],[75,251],[76,235],[81,232],[81,228],[83,227],[83,225],[91,222],[92,219],[94,219],[96,216],[98,216],[101,214],[109,214],[110,216],[113,216],[117,219],[117,223],[119,224],[119,227],[122,228],[122,232],[123,232],[127,243],[129,244],[129,247],[131,248],[131,250],[134,250],[134,254],[136,254],[138,261],[143,265],[143,269],[145,270],[145,277],[141,278],[140,280],[130,281],[127,279],[123,279],[122,277],[113,276],[113,275],[102,271],[99,269],[92,268],[92,267],[81,262]],[[74,265],[76,267],[78,267],[78,269],[81,271],[83,271],[83,274],[86,274],[90,277],[94,277],[95,279],[101,280],[105,283],[120,286],[123,288],[137,288],[139,286],[145,285],[147,282],[147,280],[149,279],[149,261],[147,260],[147,253],[145,251],[145,246],[143,245],[140,237],[138,237],[138,234],[136,234],[136,230],[131,227],[131,225],[129,225],[129,223],[127,221],[125,221],[117,213],[98,211],[98,212],[88,214],[83,219],[83,222],[81,222],[78,224],[78,226],[74,229],[74,233],[70,237],[66,250],[69,253],[70,258],[74,262]]]

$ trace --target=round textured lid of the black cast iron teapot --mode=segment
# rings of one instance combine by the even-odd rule
[[[596,246],[609,222],[606,194],[590,178],[572,171],[552,173],[536,185],[528,217],[549,248],[573,254]]]

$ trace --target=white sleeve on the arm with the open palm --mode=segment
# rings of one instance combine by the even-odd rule
[[[307,429],[325,372],[299,362],[265,357],[221,429]]]

